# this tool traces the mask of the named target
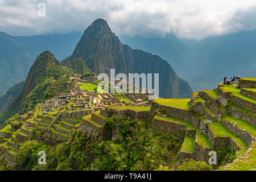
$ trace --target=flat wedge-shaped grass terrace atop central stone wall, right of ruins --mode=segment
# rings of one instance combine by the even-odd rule
[[[154,100],[154,102],[160,104],[160,105],[166,105],[166,106],[172,106],[177,107],[180,109],[189,110],[189,104],[190,98],[158,98]]]

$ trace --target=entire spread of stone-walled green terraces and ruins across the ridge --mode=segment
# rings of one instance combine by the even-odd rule
[[[256,78],[243,78],[238,85],[220,84],[214,90],[193,93],[191,99],[152,102],[146,100],[147,94],[98,93],[99,82],[96,77],[59,78],[53,85],[54,98],[11,118],[0,131],[0,156],[14,166],[24,141],[43,139],[57,144],[76,130],[94,134],[101,142],[106,119],[125,115],[136,121],[151,119],[152,130],[183,139],[175,166],[187,159],[208,163],[209,152],[218,151],[217,159],[222,157],[228,163],[220,170],[255,170]],[[112,140],[117,136],[114,131]],[[220,156],[227,148],[230,152]]]

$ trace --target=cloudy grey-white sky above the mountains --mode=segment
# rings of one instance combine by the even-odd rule
[[[46,16],[39,16],[39,3]],[[42,9],[41,9],[42,10]],[[42,11],[40,11],[42,13]],[[255,0],[0,0],[0,31],[38,35],[84,31],[97,18],[117,35],[203,39],[256,28]]]

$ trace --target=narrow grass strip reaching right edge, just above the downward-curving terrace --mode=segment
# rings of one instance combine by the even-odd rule
[[[225,115],[223,118],[230,123],[237,123],[237,127],[240,127],[241,129],[245,129],[254,137],[256,137],[256,127],[251,125],[250,123],[247,123],[242,119],[233,118],[232,115]]]

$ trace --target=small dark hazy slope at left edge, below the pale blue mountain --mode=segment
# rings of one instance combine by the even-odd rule
[[[3,96],[0,96],[0,113],[7,110],[11,102],[22,92],[24,85],[25,81],[19,82],[8,89]]]

